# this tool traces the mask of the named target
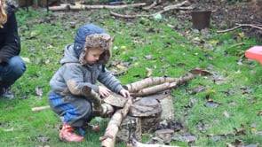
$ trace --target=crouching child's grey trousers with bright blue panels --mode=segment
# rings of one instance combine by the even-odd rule
[[[53,92],[48,97],[52,111],[62,116],[68,125],[82,127],[83,123],[91,120],[92,106],[88,98],[73,95],[61,97]]]

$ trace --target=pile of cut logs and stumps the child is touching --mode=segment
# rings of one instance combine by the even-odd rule
[[[179,85],[192,80],[200,74],[210,75],[210,72],[195,68],[187,76],[179,78],[150,77],[127,84],[125,88],[131,93],[129,98],[113,93],[99,101],[98,95],[92,89],[85,89],[85,93],[92,99],[92,102],[96,102],[94,105],[98,105],[97,109],[93,110],[94,113],[98,114],[98,116],[108,117],[108,115],[105,115],[108,110],[105,109],[110,109],[110,120],[106,132],[99,138],[101,146],[114,147],[115,140],[118,138],[123,142],[131,143],[133,147],[147,147],[147,145],[138,142],[141,140],[142,134],[154,133],[160,126],[161,120],[174,119],[171,89],[178,88]],[[42,108],[49,107],[35,107],[32,108],[32,111],[41,111]],[[165,146],[158,144],[157,147]]]

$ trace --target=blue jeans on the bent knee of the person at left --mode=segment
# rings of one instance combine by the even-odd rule
[[[0,64],[0,88],[10,87],[25,73],[27,67],[20,56],[10,58],[8,63]]]

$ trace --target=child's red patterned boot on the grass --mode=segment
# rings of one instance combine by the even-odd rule
[[[67,123],[64,122],[63,127],[60,131],[60,141],[63,142],[83,142],[83,136],[76,135],[74,133],[74,128],[72,126],[67,125]]]

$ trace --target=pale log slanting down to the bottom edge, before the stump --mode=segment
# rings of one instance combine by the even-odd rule
[[[99,140],[102,141],[101,143],[102,147],[114,147],[115,146],[115,138],[119,130],[120,124],[123,118],[129,112],[131,104],[132,104],[132,97],[129,97],[123,109],[119,109],[113,114],[112,118],[108,122],[105,135],[99,138]]]

